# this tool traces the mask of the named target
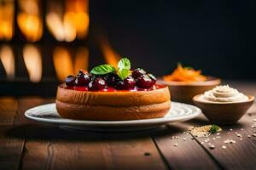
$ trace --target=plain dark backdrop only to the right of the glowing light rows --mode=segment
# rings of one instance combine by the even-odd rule
[[[104,32],[114,50],[158,76],[177,62],[222,78],[256,78],[256,3],[90,1],[90,40]],[[93,41],[90,41],[93,42]],[[90,44],[92,65],[104,62]]]

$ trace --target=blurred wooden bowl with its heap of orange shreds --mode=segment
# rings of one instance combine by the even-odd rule
[[[205,76],[201,71],[196,71],[191,67],[184,67],[177,64],[177,68],[172,74],[158,80],[170,88],[172,100],[193,104],[193,97],[202,94],[220,84],[220,79]]]

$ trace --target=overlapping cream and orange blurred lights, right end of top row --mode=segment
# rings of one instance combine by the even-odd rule
[[[60,3],[49,3],[46,25],[58,41],[73,42],[83,39],[89,29],[89,0],[67,0],[65,8]]]

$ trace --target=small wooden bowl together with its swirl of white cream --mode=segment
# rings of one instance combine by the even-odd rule
[[[237,122],[253,105],[254,97],[225,85],[196,95],[193,100],[211,122],[231,124]]]

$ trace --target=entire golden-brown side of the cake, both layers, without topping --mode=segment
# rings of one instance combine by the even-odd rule
[[[60,116],[78,120],[120,121],[165,116],[171,108],[169,89],[90,92],[58,87]]]

